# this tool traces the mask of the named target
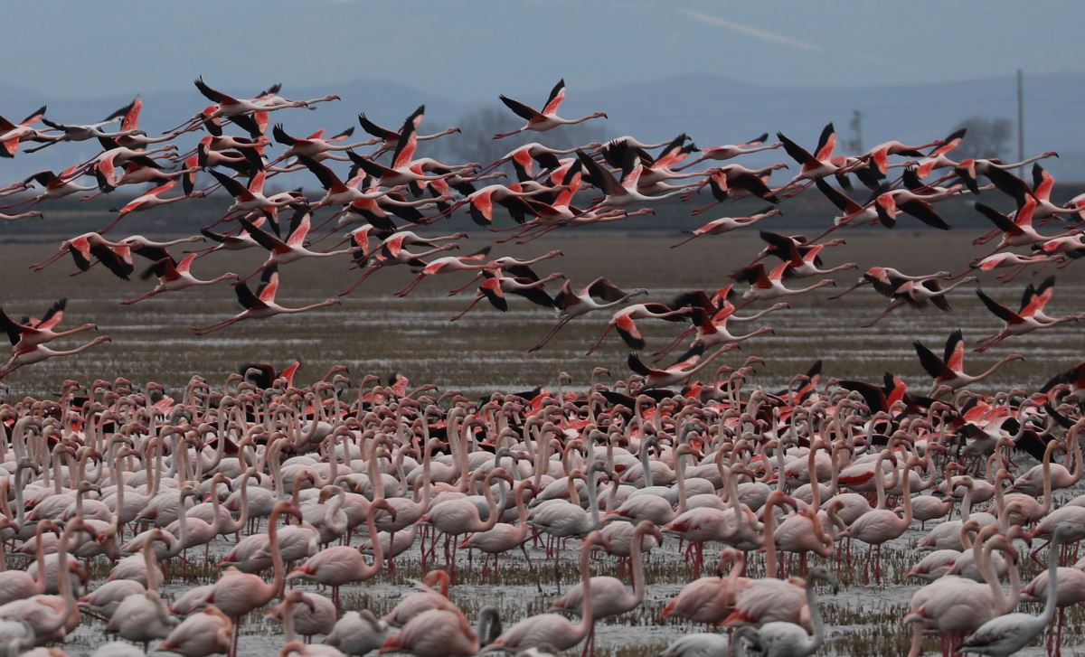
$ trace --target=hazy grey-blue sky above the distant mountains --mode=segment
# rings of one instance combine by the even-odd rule
[[[56,10],[56,11],[53,11]],[[387,79],[457,100],[677,73],[868,86],[1085,70],[1080,0],[98,0],[4,8],[0,82],[79,98]],[[240,93],[241,91],[239,91]]]

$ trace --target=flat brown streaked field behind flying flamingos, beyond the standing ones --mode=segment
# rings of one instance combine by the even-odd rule
[[[769,224],[766,228],[771,228],[770,222],[766,223]],[[133,227],[131,232],[136,230]],[[970,244],[972,234],[974,231],[934,234],[901,229],[858,230],[847,235],[845,246],[831,248],[825,260],[827,266],[854,260],[859,272],[875,263],[895,266],[909,273],[960,271],[970,259],[985,253],[986,246]],[[669,248],[680,236],[677,231],[565,231],[524,246],[496,245],[494,253],[533,256],[560,248],[564,257],[541,263],[540,272],[564,272],[577,286],[597,275],[607,275],[625,288],[649,288],[650,299],[667,300],[679,291],[726,284],[727,273],[749,261],[763,246],[756,234],[748,231],[702,237],[681,248]],[[493,236],[476,230],[471,239],[461,242],[458,253],[470,253],[492,241]],[[403,267],[376,273],[340,307],[247,321],[201,338],[192,334],[191,326],[212,323],[240,310],[228,283],[122,306],[120,299],[150,289],[152,281],[140,281],[135,275],[129,282],[120,281],[101,267],[72,276],[77,270],[67,257],[39,273],[28,270],[31,262],[53,253],[58,243],[59,240],[0,246],[4,310],[13,317],[36,314],[53,299],[67,297],[63,326],[94,322],[114,342],[78,358],[55,359],[15,372],[4,382],[13,394],[53,391],[66,377],[89,381],[118,375],[138,383],[157,381],[178,387],[195,373],[220,381],[244,362],[282,365],[295,358],[305,363],[301,381],[316,379],[330,365],[346,363],[356,376],[365,373],[386,376],[398,371],[414,383],[433,382],[442,388],[472,392],[531,388],[539,384],[553,386],[562,371],[573,376],[574,385],[584,386],[596,365],[610,368],[615,377],[628,373],[624,362],[628,349],[616,335],[609,336],[592,357],[583,356],[605,327],[608,317],[602,312],[572,322],[544,350],[528,353],[527,349],[551,325],[550,311],[513,297],[506,313],[483,301],[463,320],[450,323],[448,319],[470,301],[473,293],[469,289],[457,297],[448,297],[446,293],[465,283],[469,274],[434,276],[407,299],[399,299],[392,292],[412,276]],[[317,247],[330,245],[328,241]],[[219,252],[197,260],[193,271],[200,278],[212,278],[227,270],[246,273],[260,258],[261,254],[255,250]],[[281,271],[280,302],[299,306],[335,296],[356,275],[348,265],[343,256],[285,266]],[[143,266],[142,260],[139,266]],[[1055,272],[1052,266],[1035,269],[1038,271],[1029,271],[1009,285],[1001,285],[993,273],[982,274],[981,283],[995,298],[1014,305],[1027,282],[1038,282]],[[1049,313],[1085,310],[1081,268],[1070,267],[1057,273],[1058,286]],[[858,278],[858,272],[845,270],[834,278],[844,287]],[[804,279],[788,284],[805,286],[812,282]],[[549,289],[554,292],[557,287],[551,285]],[[902,308],[872,328],[859,325],[873,318],[884,307],[885,299],[869,286],[838,301],[826,299],[832,288],[815,291],[791,299],[790,310],[757,322],[732,324],[735,333],[767,324],[776,334],[743,343],[741,351],[726,355],[722,362],[739,363],[753,353],[764,357],[766,365],[755,381],[768,386],[786,383],[820,358],[825,360],[828,376],[869,379],[892,371],[904,375],[910,385],[926,388],[929,379],[919,368],[912,339],[921,339],[939,352],[945,337],[957,327],[963,330],[966,339],[975,340],[1000,326],[1000,321],[980,304],[973,287],[969,284],[950,293],[952,313],[934,308],[924,311]],[[762,302],[751,309],[764,306]],[[641,326],[649,339],[648,351],[654,351],[685,325],[655,321],[641,322]],[[1011,338],[987,353],[970,356],[966,362],[969,371],[979,371],[1016,350],[1024,353],[1026,360],[1000,371],[987,387],[1038,386],[1081,359],[1085,345],[1081,335],[1078,325],[1063,324]],[[63,347],[75,344],[76,338],[68,338]]]

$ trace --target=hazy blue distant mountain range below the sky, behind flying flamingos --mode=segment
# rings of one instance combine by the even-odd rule
[[[1057,150],[1061,157],[1045,160],[1045,166],[1062,181],[1085,181],[1085,124],[1081,121],[1080,110],[1085,106],[1085,74],[1026,76],[1024,88],[1026,154]],[[254,91],[239,90],[239,93]],[[507,93],[527,103],[541,104],[547,91],[548,88],[508,89]],[[501,107],[496,98],[463,103],[388,81],[285,87],[282,93],[291,98],[337,93],[343,99],[317,105],[314,112],[291,110],[273,117],[297,134],[321,127],[337,132],[357,126],[359,112],[366,112],[379,124],[396,127],[421,103],[427,108],[423,131],[444,128],[478,107]],[[131,100],[130,96],[72,99],[62,92],[40,93],[17,85],[0,85],[0,98],[3,99],[0,114],[10,120],[17,120],[35,107],[48,104],[48,116],[67,123],[97,120]],[[143,103],[142,127],[150,132],[180,124],[208,104],[191,87],[170,93],[146,94]],[[639,85],[570,88],[562,114],[576,116],[592,111],[610,115],[609,120],[598,125],[612,136],[633,134],[641,140],[658,141],[687,132],[698,144],[707,146],[780,130],[810,147],[821,127],[830,120],[835,123],[841,139],[850,138],[848,120],[853,111],[859,111],[864,114],[864,143],[869,147],[888,139],[906,143],[928,141],[946,134],[961,119],[976,115],[1005,117],[1016,125],[1017,102],[1012,76],[920,86],[871,83],[821,88],[775,87],[768,80],[750,85],[714,75],[676,75]],[[546,136],[540,137],[539,141],[545,142]],[[0,162],[0,182],[40,169],[60,170],[93,156],[97,146],[93,142],[82,142],[50,147],[29,156],[20,153],[13,160]],[[1007,151],[1007,156],[1016,155],[1016,134]],[[752,156],[749,162],[761,164],[770,158],[786,159],[786,155],[769,152],[765,157]]]

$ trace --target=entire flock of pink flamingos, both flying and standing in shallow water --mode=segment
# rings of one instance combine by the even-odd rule
[[[810,655],[834,632],[819,602],[827,590],[818,585],[835,592],[842,568],[863,549],[866,583],[904,585],[883,579],[882,548],[899,549],[909,531],[922,553],[906,578],[924,582],[901,619],[914,655],[930,634],[941,636],[946,654],[1010,655],[1046,631],[1047,649],[1061,650],[1063,610],[1085,602],[1085,563],[1074,564],[1063,550],[1085,538],[1085,495],[1052,495],[1082,477],[1085,362],[1050,372],[1039,390],[983,395],[969,386],[1022,356],[1007,353],[970,374],[957,331],[944,348],[914,345],[929,390],[909,390],[892,373],[880,382],[822,377],[820,361],[773,390],[750,382],[764,363],[756,356],[710,370],[740,343],[773,333],[769,326],[732,333],[735,325],[784,312],[784,299],[835,286],[829,274],[856,268],[826,263],[847,229],[919,221],[949,230],[939,212],[947,198],[976,196],[976,211],[993,228],[975,243],[991,244],[988,255],[958,272],[872,267],[830,298],[870,285],[888,299],[872,325],[905,306],[949,311],[955,288],[995,269],[1009,284],[1030,267],[1067,267],[1085,255],[1085,194],[1052,201],[1055,181],[1039,160],[1056,153],[1020,163],[955,159],[967,139],[961,130],[840,155],[830,124],[813,149],[783,133],[706,149],[686,134],[660,143],[621,137],[567,150],[533,142],[494,163],[449,164],[419,149],[455,139],[459,129],[425,133],[422,107],[398,129],[360,114],[370,137],[359,141],[352,141],[353,127],[301,137],[288,131],[289,113],[272,113],[337,96],[292,100],[275,86],[239,98],[202,79],[195,86],[212,104],[156,137],[139,127],[138,98],[93,124],[61,124],[44,107],[17,124],[0,118],[0,154],[9,157],[61,142],[102,145],[86,162],[0,191],[8,197],[4,220],[38,217],[50,202],[74,194],[130,198],[101,230],[65,240],[35,271],[71,257],[79,271],[100,265],[120,279],[140,271],[156,281],[123,304],[232,285],[241,310],[194,326],[199,335],[340,304],[388,267],[417,274],[398,297],[442,285],[446,276],[438,274],[464,272],[461,279],[472,278],[452,292],[474,287],[475,296],[454,320],[483,301],[500,311],[513,302],[552,309],[557,321],[535,351],[574,319],[604,311],[610,319],[587,353],[614,333],[633,351],[630,373],[608,384],[610,372],[597,369],[583,391],[565,388],[571,382],[563,376],[553,391],[472,400],[432,384],[410,389],[401,375],[386,384],[375,376],[354,382],[344,366],[305,385],[295,362],[282,371],[244,365],[221,385],[194,376],[176,398],[159,384],[117,378],[66,381],[55,399],[4,403],[3,554],[35,555],[25,570],[0,571],[7,654],[63,654],[65,637],[80,624],[101,632],[104,623],[125,641],[101,642],[93,653],[101,657],[145,655],[151,642],[186,657],[235,655],[248,636],[242,626],[261,609],[282,622],[280,655],[545,655],[582,645],[593,653],[596,623],[621,622],[644,603],[646,557],[677,540],[694,579],[661,617],[707,630],[681,636],[664,655]],[[494,139],[607,118],[603,112],[564,118],[564,81],[539,110],[500,96],[524,124]],[[282,123],[272,123],[279,116]],[[188,133],[199,142],[181,152],[174,142]],[[735,162],[777,149],[788,162],[760,168]],[[1030,164],[1030,179],[1013,172]],[[268,179],[306,171],[323,189],[319,198],[302,190],[265,192]],[[122,189],[146,184],[153,188],[138,194]],[[200,203],[216,192],[233,203],[200,235],[117,234],[138,221],[129,215]],[[764,248],[722,286],[649,301],[637,298],[647,289],[607,278],[574,284],[560,272],[541,273],[562,257],[559,250],[526,259],[492,253],[561,229],[631,220],[659,201],[692,202],[705,192],[711,199],[692,214],[738,198],[765,203],[754,215],[709,221],[673,245],[756,224],[751,230],[760,231]],[[767,230],[800,194],[824,195],[839,216],[816,236]],[[992,205],[1008,202],[1017,207],[1008,215]],[[470,255],[445,255],[464,233],[431,229],[457,212],[507,234]],[[318,246],[329,239],[339,243]],[[177,257],[193,243],[206,246]],[[214,258],[205,257],[240,249],[263,249],[267,258],[247,272],[193,273],[209,269],[204,262]],[[327,258],[329,270],[343,272],[340,297],[303,307],[276,301],[280,275],[303,258]],[[978,289],[1003,325],[978,338],[974,351],[1085,319],[1047,314],[1054,292],[1054,274],[1025,285],[1019,305]],[[63,330],[64,315],[63,300],[37,318],[0,310],[12,344],[0,378],[110,340],[51,347],[95,328]],[[640,356],[648,348],[641,326],[654,321],[676,331],[650,364]],[[655,364],[675,350],[672,364]],[[347,392],[355,385],[356,397]],[[1036,464],[1022,465],[1025,455]],[[578,539],[575,546],[570,538]],[[1039,561],[1044,546],[1034,543],[1041,541],[1046,568],[1022,583],[1020,566],[1030,554]],[[200,548],[217,572],[192,585],[187,572],[200,564]],[[717,574],[701,577],[716,563],[705,561],[706,548],[722,551]],[[498,582],[500,557],[508,555],[509,568],[518,553],[540,593],[551,562],[559,589],[563,559],[576,561],[579,582],[549,613],[509,619],[486,607],[475,624],[449,597],[463,551],[483,554],[483,568],[493,568]],[[345,608],[354,603],[341,588],[376,580],[400,555],[421,564],[416,591],[387,613]],[[618,577],[591,576],[593,564],[609,562]],[[95,576],[95,568],[108,575]],[[631,589],[621,579],[626,575]],[[1039,602],[1041,613],[1025,602]],[[323,640],[312,643],[314,636]]]

